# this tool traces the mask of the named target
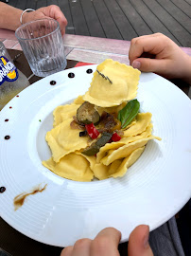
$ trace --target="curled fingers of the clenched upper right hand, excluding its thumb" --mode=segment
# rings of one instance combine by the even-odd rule
[[[147,36],[140,36],[134,38],[130,42],[129,59],[130,64],[141,57],[144,52],[148,52],[153,55],[159,54],[165,48],[165,35],[156,33]]]

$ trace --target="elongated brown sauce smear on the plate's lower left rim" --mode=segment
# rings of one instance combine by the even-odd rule
[[[44,185],[43,188],[41,188],[41,184],[38,185],[38,187],[34,188],[31,192],[22,192],[19,195],[14,197],[14,210],[18,210],[20,207],[22,207],[25,203],[26,197],[30,194],[35,194],[37,192],[43,192],[46,189],[47,184]]]

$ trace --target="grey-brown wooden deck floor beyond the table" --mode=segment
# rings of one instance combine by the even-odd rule
[[[66,33],[131,40],[162,32],[179,46],[191,46],[191,0],[9,0],[19,9],[58,5]]]

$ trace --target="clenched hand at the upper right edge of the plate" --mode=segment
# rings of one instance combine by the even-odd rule
[[[130,64],[140,71],[154,72],[167,79],[190,79],[191,58],[164,34],[133,38],[129,58]]]

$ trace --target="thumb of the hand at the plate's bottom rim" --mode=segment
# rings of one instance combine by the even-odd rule
[[[152,250],[148,245],[149,227],[140,225],[130,233],[128,246],[129,256],[153,256]]]

